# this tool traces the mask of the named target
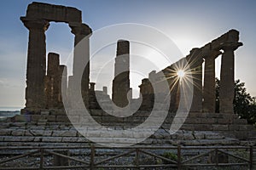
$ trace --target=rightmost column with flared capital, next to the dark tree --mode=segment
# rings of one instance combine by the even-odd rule
[[[221,72],[219,82],[219,112],[234,113],[233,100],[235,97],[234,51],[242,45],[241,42],[224,42],[221,58]]]

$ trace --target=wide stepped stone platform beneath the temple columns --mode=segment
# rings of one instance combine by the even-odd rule
[[[137,111],[135,117],[117,118],[101,110],[91,110],[96,122],[113,128],[134,127],[144,122],[149,112]],[[236,115],[221,113],[189,113],[177,133],[169,129],[175,115],[170,113],[160,129],[140,144],[237,145],[256,144],[256,129]],[[79,120],[79,117],[78,117]],[[20,115],[0,122],[0,145],[86,145],[91,144],[69,122],[64,112],[42,111],[41,115]],[[91,132],[93,133],[93,131]],[[104,134],[96,136],[102,138]],[[134,139],[143,138],[133,136]],[[132,140],[131,136],[123,141]],[[104,141],[102,141],[104,143]]]

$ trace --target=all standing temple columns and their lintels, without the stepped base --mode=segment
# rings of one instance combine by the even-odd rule
[[[31,3],[26,16],[20,17],[24,26],[29,30],[27,67],[26,67],[26,111],[37,112],[42,109],[63,108],[61,96],[61,80],[66,81],[69,89],[74,79],[79,77],[79,69],[83,68],[81,60],[87,61],[81,80],[81,93],[84,104],[89,108],[101,109],[96,101],[95,83],[90,82],[90,35],[89,26],[82,23],[81,11],[77,8],[50,5],[46,3]],[[59,54],[48,54],[48,65],[46,72],[46,44],[45,31],[49,22],[65,22],[70,26],[74,34],[74,46],[82,39],[86,40],[85,47],[74,50],[73,54],[73,76],[68,77],[65,65],[60,65]],[[221,55],[221,74],[219,89],[219,111],[221,113],[233,113],[234,99],[234,52],[242,45],[239,42],[239,32],[230,30],[221,37],[207,43],[201,48],[193,48],[190,54],[176,63],[169,65],[162,72],[170,86],[172,94],[170,111],[176,111],[179,103],[179,85],[175,75],[177,68],[186,61],[189,64],[189,71],[192,73],[194,84],[193,101],[190,112],[215,112],[215,59]],[[80,50],[78,52],[78,50]],[[81,53],[82,50],[82,53]],[[130,88],[130,42],[119,40],[114,66],[113,79],[113,103],[119,107],[128,105],[127,94]],[[86,62],[85,62],[86,63]],[[205,65],[204,70],[202,65]],[[179,66],[178,66],[179,65]],[[186,68],[188,69],[188,68]],[[65,71],[65,72],[63,72]],[[203,79],[204,72],[204,79]],[[159,73],[152,71],[149,77],[143,79],[140,87],[143,104],[141,110],[150,110],[154,105],[154,90],[150,81],[157,83]],[[150,80],[150,81],[149,81]],[[204,82],[202,82],[204,80]],[[107,95],[107,88],[104,87]],[[67,90],[68,91],[68,90]],[[65,94],[66,95],[66,94]],[[109,98],[110,100],[110,98]]]

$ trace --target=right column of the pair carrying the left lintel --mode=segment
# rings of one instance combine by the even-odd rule
[[[73,80],[81,81],[81,93],[85,105],[88,104],[90,76],[90,34],[89,26],[80,23],[69,23],[74,37]],[[83,72],[84,71],[84,72]],[[77,83],[75,83],[77,84]],[[80,93],[80,92],[79,92]]]

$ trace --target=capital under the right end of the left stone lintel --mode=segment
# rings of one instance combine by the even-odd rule
[[[92,33],[90,27],[83,23],[69,23],[69,27],[74,35],[88,36]]]

